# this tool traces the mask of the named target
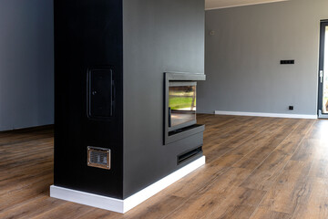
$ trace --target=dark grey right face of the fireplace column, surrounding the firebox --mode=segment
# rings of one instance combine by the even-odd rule
[[[177,154],[192,146],[163,145],[164,72],[204,72],[205,13],[204,0],[125,0],[123,8],[127,195],[175,171]]]

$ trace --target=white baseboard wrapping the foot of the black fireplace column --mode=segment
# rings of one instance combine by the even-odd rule
[[[158,182],[149,185],[138,193],[129,196],[125,200],[110,198],[107,196],[97,195],[93,193],[84,193],[77,190],[58,187],[55,185],[50,186],[50,196],[73,203],[82,203],[88,206],[123,214],[137,206],[139,203],[143,203],[154,194],[159,193],[161,190],[165,189],[170,184],[179,181],[179,179],[186,176],[190,172],[195,171],[204,164],[205,156],[202,156],[198,160],[190,162],[190,164],[182,167],[176,172],[169,174]]]

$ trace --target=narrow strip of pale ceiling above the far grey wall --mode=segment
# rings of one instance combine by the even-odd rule
[[[288,0],[205,0],[206,10],[242,5],[257,5]]]

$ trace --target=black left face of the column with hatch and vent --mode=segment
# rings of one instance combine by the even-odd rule
[[[55,185],[122,198],[122,1],[56,0],[54,6]],[[94,117],[88,118],[87,72],[108,68],[112,75],[92,85],[102,95],[91,99]],[[114,105],[112,89],[106,88],[110,78]],[[108,101],[101,106],[104,98]],[[111,170],[87,167],[87,146],[110,149]]]

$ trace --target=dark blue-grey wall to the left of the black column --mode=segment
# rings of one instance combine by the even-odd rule
[[[53,123],[53,1],[0,0],[0,130]]]

